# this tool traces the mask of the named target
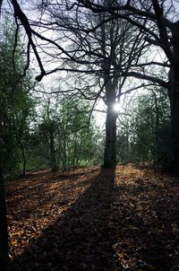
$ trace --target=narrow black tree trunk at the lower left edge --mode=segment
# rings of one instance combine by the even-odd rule
[[[8,257],[8,234],[4,198],[4,178],[2,153],[0,153],[0,270],[7,271],[10,267]]]

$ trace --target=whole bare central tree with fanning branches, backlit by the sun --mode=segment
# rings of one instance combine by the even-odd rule
[[[112,4],[109,0],[103,1],[103,3],[107,6]],[[141,43],[142,33],[122,19],[114,19],[108,22],[109,13],[96,15],[90,12],[83,14],[81,18],[75,14],[67,20],[65,13],[59,15],[59,12],[55,12],[52,6],[50,6],[50,10],[55,21],[58,22],[59,30],[68,29],[71,33],[69,39],[72,40],[73,51],[75,49],[76,63],[78,64],[79,60],[83,60],[85,62],[83,64],[84,71],[86,73],[89,71],[90,74],[92,71],[95,74],[92,80],[98,81],[95,84],[98,92],[92,92],[92,90],[91,92],[94,100],[97,101],[102,98],[107,105],[104,167],[113,168],[116,164],[117,118],[114,106],[115,102],[120,101],[121,95],[124,94],[122,89],[126,79],[126,77],[120,75],[119,70],[121,68],[128,70],[130,66],[136,65],[138,62],[145,48],[145,42]],[[88,30],[92,29],[95,23],[98,23],[98,25],[103,21],[106,21],[106,23],[102,23],[97,31],[92,31],[90,35],[86,35],[87,27],[84,28],[83,26],[84,20],[88,22]],[[133,32],[135,32],[135,35]],[[81,42],[81,40],[83,41]],[[75,59],[73,59],[73,62]],[[81,63],[76,67],[81,70]],[[116,67],[118,71],[116,71]],[[91,86],[89,87],[91,88]],[[81,89],[81,92],[85,99],[90,99],[85,95],[86,89],[86,87]]]

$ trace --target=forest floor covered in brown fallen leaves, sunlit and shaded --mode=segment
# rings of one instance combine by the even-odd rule
[[[179,270],[179,179],[132,165],[6,186],[13,270]]]

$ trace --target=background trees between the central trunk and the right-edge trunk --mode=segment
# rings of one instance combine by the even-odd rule
[[[119,116],[119,161],[169,165],[170,142],[170,105],[166,90],[153,88],[133,98],[124,115]]]

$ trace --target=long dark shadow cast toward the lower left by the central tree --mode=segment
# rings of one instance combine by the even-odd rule
[[[114,270],[114,183],[115,170],[101,170],[90,188],[14,259],[12,270]]]

